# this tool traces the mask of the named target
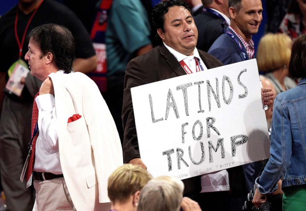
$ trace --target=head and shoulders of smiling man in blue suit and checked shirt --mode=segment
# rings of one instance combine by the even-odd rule
[[[260,0],[229,0],[230,26],[209,48],[208,53],[224,65],[253,59],[252,35],[263,19]]]

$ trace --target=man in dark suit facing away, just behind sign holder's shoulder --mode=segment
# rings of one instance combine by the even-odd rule
[[[194,21],[199,38],[196,47],[207,52],[213,42],[223,34],[230,23],[228,0],[202,0],[203,10]]]

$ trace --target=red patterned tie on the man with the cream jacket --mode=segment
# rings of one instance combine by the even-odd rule
[[[34,133],[34,128],[36,126],[37,120],[38,120],[38,108],[37,108],[37,104],[36,104],[36,97],[39,95],[39,91],[37,92],[37,94],[35,95],[34,98],[34,103],[33,103],[33,112],[32,112],[32,124],[31,124],[31,135],[33,136]],[[26,171],[26,179],[27,181],[29,181],[31,174],[32,174],[32,168],[33,168],[33,163],[34,163],[34,156],[35,156],[35,145],[36,145],[36,139],[38,136],[38,132],[36,133],[35,137],[32,140],[32,150],[31,150],[31,154],[30,154],[30,159],[29,159],[29,163],[27,165],[27,171]]]

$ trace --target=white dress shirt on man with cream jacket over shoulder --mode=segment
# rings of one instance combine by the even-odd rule
[[[56,74],[64,73],[59,70]],[[35,99],[38,108],[39,135],[35,147],[35,163],[33,171],[62,174],[58,149],[58,133],[54,95],[38,95]]]

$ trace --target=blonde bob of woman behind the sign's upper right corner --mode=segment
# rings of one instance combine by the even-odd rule
[[[288,66],[291,55],[291,39],[287,34],[264,35],[258,45],[258,70],[273,72],[281,67]]]

